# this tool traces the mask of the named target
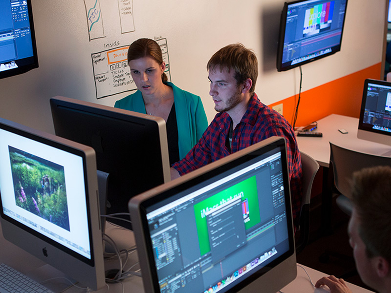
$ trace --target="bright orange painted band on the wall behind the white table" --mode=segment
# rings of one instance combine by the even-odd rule
[[[296,126],[304,126],[330,114],[360,115],[364,80],[380,79],[381,63],[301,93]],[[303,75],[303,83],[305,76]],[[282,113],[293,124],[299,94],[269,106],[283,104]]]

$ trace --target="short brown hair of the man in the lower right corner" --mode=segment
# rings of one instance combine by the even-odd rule
[[[391,261],[391,167],[364,168],[353,174],[352,202],[358,233],[369,257]]]

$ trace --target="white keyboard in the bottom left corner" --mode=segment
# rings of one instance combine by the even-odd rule
[[[54,293],[17,270],[0,264],[0,293]]]

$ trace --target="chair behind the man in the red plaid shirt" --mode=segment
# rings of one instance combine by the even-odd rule
[[[296,253],[304,249],[309,237],[309,203],[311,200],[311,189],[319,164],[304,152],[300,152],[303,170],[303,200],[300,209],[299,229],[300,235],[296,241]]]

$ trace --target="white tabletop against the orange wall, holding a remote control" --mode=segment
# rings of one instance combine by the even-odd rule
[[[338,129],[348,130],[343,134]],[[331,114],[318,121],[318,128],[314,131],[322,132],[323,137],[298,136],[299,150],[314,158],[320,166],[328,167],[330,161],[330,145],[357,150],[374,155],[382,155],[390,151],[390,146],[369,142],[357,138],[358,118]]]

